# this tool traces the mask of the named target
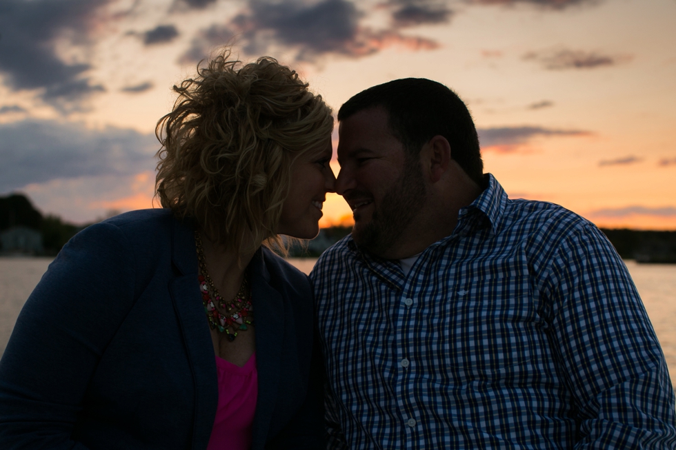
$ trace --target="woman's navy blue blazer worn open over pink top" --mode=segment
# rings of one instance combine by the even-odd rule
[[[310,281],[264,248],[247,271],[252,449],[324,449]],[[0,360],[0,448],[206,449],[217,400],[192,226],[130,212],[74,236],[24,305]]]

